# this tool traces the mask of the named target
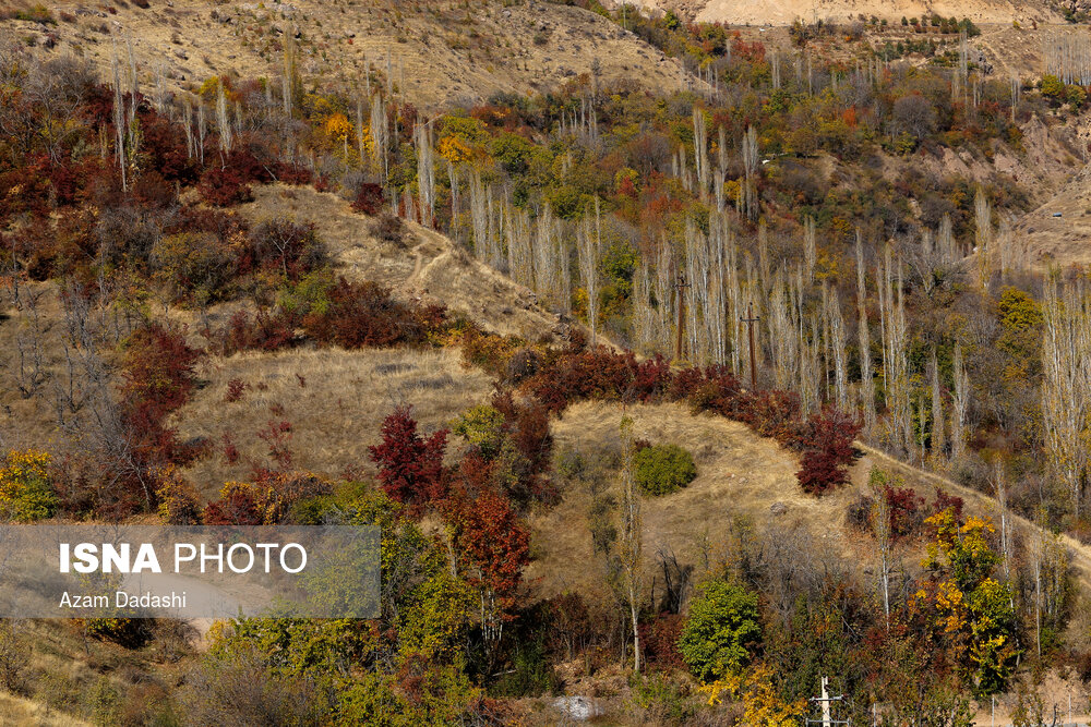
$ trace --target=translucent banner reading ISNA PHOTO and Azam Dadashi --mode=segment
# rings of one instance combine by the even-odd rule
[[[0,618],[376,618],[380,531],[0,525]]]

